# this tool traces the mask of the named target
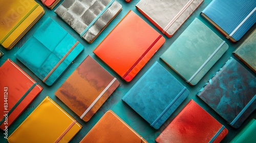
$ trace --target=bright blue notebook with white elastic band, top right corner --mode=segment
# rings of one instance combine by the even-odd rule
[[[237,42],[256,22],[255,0],[213,0],[201,15],[227,39]]]

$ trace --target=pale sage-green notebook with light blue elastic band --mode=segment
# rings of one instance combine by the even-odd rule
[[[196,85],[227,49],[225,41],[195,18],[160,58]]]

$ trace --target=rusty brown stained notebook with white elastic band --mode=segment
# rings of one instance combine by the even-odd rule
[[[118,86],[116,78],[87,56],[55,95],[87,122]]]

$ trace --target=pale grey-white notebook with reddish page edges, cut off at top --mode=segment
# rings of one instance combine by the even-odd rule
[[[172,37],[203,0],[140,0],[136,8],[167,37]]]

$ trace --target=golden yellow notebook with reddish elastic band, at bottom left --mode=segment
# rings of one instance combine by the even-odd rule
[[[8,142],[69,142],[82,126],[46,97],[8,137]]]

